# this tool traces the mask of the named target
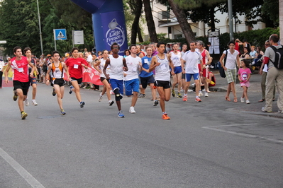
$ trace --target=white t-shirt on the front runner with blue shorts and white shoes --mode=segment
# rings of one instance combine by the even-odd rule
[[[126,59],[128,71],[124,72],[127,76],[124,77],[124,81],[131,81],[138,78],[138,66],[141,63],[140,57],[132,57],[129,55]]]

